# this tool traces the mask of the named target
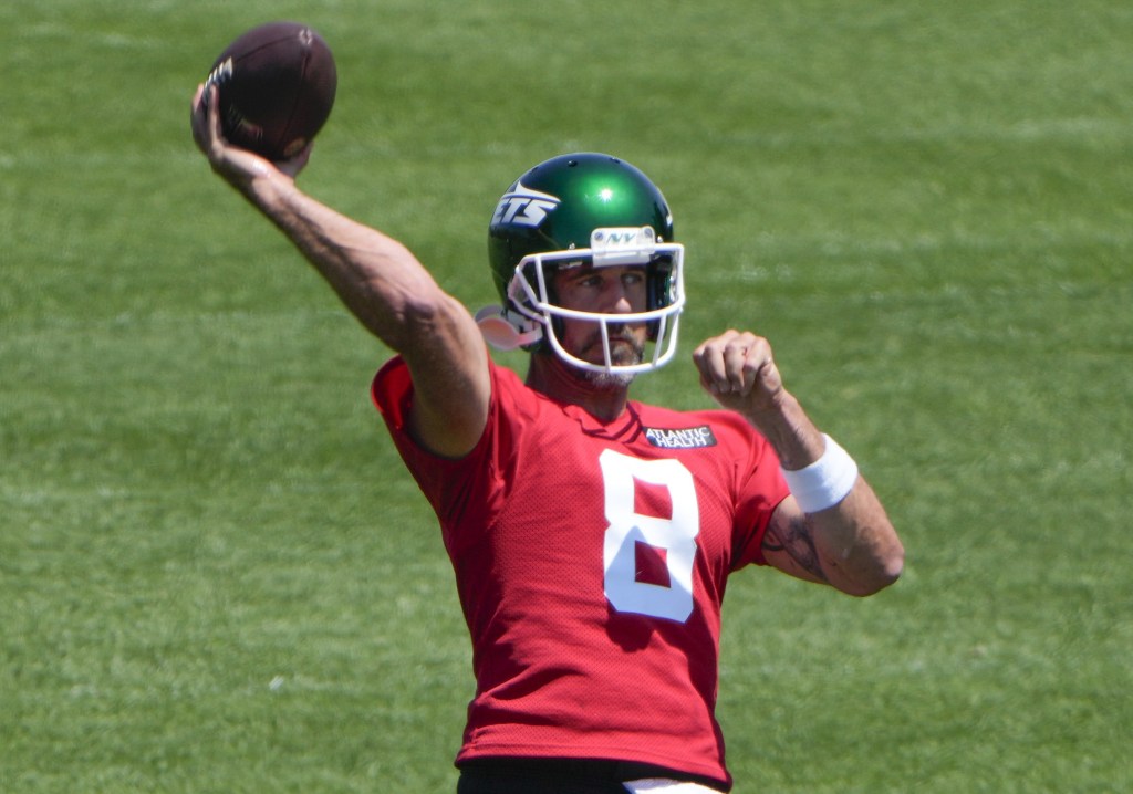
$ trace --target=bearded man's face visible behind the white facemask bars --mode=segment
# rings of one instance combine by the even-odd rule
[[[560,267],[553,280],[557,304],[578,311],[607,315],[646,310],[646,268],[644,265],[610,265],[594,267],[574,265]],[[583,319],[562,319],[563,348],[583,361],[605,364],[602,328]],[[645,356],[645,323],[623,325],[611,323],[610,355],[614,365],[639,364]]]

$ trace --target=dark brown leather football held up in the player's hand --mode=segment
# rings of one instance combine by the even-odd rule
[[[219,91],[224,137],[280,161],[303,151],[326,123],[338,70],[318,33],[299,23],[273,22],[252,28],[220,53],[205,80],[206,88],[211,85]]]

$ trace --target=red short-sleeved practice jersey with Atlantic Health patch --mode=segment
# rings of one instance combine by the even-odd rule
[[[764,563],[787,495],[730,411],[631,401],[603,422],[492,365],[487,426],[459,460],[406,432],[400,358],[374,402],[436,511],[472,641],[474,758],[654,763],[731,784],[716,706],[727,575]]]

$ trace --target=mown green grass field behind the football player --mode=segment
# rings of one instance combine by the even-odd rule
[[[886,501],[891,590],[733,579],[739,794],[1133,791],[1127,0],[0,6],[0,791],[453,789],[389,351],[189,138],[272,18],[339,62],[312,194],[477,308],[510,181],[624,156],[688,246],[682,358],[767,335]]]

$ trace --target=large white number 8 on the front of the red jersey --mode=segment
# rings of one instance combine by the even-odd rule
[[[692,473],[679,460],[640,460],[613,450],[604,451],[598,462],[610,522],[604,553],[606,598],[617,612],[683,623],[692,614],[692,566],[700,533]],[[638,513],[634,480],[666,488],[672,515]],[[667,587],[641,581],[638,560],[642,553],[664,562]]]

